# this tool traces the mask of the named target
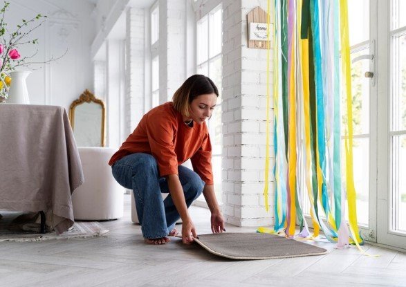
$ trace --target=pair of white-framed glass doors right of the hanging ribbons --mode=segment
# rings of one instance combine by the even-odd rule
[[[348,1],[358,225],[367,241],[403,249],[406,248],[405,10],[406,0]],[[342,127],[347,124],[345,109],[342,105]],[[299,186],[305,186],[304,180],[301,183]],[[305,203],[308,210],[308,202]]]

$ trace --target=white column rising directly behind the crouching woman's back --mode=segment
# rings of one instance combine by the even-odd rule
[[[129,8],[126,16],[124,121],[129,134],[145,113],[145,10]]]

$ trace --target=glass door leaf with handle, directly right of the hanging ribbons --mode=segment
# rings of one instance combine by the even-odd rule
[[[375,0],[348,1],[353,104],[353,174],[357,219],[362,237],[376,241],[376,41]],[[344,90],[344,89],[343,89]],[[347,95],[342,95],[342,169],[345,172],[344,130]],[[346,210],[348,220],[348,210]]]

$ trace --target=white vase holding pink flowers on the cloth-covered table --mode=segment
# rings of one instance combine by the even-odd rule
[[[8,104],[30,104],[26,79],[30,71],[10,72],[11,84],[8,91]]]

